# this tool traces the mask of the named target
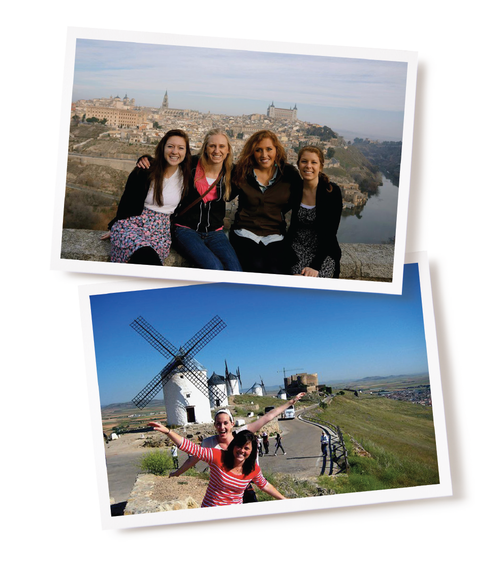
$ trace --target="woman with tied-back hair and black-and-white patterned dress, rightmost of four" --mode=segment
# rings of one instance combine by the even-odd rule
[[[340,187],[321,170],[323,152],[314,146],[299,150],[297,166],[302,177],[302,198],[294,206],[287,241],[296,261],[293,275],[338,278],[341,250],[337,241],[342,213]]]

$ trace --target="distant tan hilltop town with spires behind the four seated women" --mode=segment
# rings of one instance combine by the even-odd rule
[[[345,174],[340,170],[339,159],[335,158],[336,151],[347,150],[352,142],[345,141],[331,128],[320,124],[311,124],[298,119],[297,104],[293,108],[279,108],[274,101],[268,105],[263,113],[253,113],[244,116],[229,116],[226,114],[202,113],[192,109],[170,108],[168,92],[165,92],[163,102],[159,108],[149,108],[136,104],[134,98],[127,94],[123,98],[118,95],[109,98],[79,99],[71,105],[71,119],[80,123],[94,123],[105,125],[109,130],[101,133],[99,139],[107,137],[129,144],[156,145],[169,129],[179,128],[187,132],[190,137],[190,148],[198,150],[202,145],[203,136],[212,128],[223,128],[228,133],[234,148],[235,159],[243,150],[245,140],[252,133],[263,129],[270,129],[276,133],[283,144],[290,163],[297,161],[299,148],[305,145],[315,145],[324,152],[324,171],[334,175],[334,181],[341,187],[343,193],[344,209],[354,210],[363,206],[368,200],[368,185],[376,189],[379,183],[374,170],[366,160],[366,166],[351,168],[353,173]],[[360,139],[357,139],[361,142]],[[364,144],[379,144],[378,140],[362,140]],[[383,144],[400,144],[384,142]],[[79,145],[73,148],[79,151]],[[70,147],[71,149],[71,147]],[[337,155],[340,155],[337,153]],[[353,160],[349,160],[353,163]],[[360,162],[354,162],[359,164]],[[339,169],[336,169],[339,168]],[[361,171],[361,177],[356,178],[355,172]],[[364,186],[363,186],[364,183]],[[360,189],[360,187],[362,189]],[[373,191],[373,190],[372,190]]]

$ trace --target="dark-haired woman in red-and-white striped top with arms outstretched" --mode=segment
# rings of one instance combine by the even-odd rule
[[[150,421],[148,425],[166,434],[181,451],[196,455],[209,464],[210,480],[201,507],[243,503],[243,493],[250,481],[275,499],[286,499],[264,479],[255,462],[257,442],[251,431],[241,431],[229,443],[227,450],[222,451],[198,446],[158,421]]]

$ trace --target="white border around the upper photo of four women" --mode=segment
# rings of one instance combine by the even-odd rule
[[[391,60],[407,63],[405,114],[403,120],[401,175],[399,179],[396,222],[397,241],[394,247],[393,279],[391,282],[294,277],[275,274],[253,274],[234,271],[200,270],[183,267],[143,266],[125,263],[92,262],[61,258],[61,232],[66,188],[67,150],[70,133],[72,86],[74,78],[76,39],[133,41],[149,44],[171,44],[190,47],[245,49],[247,51],[286,52],[300,55],[336,56],[357,59]],[[202,282],[229,282],[307,287],[343,291],[401,294],[405,258],[407,210],[410,191],[411,153],[413,145],[414,110],[416,104],[418,52],[386,48],[363,48],[323,44],[302,44],[275,40],[229,38],[203,33],[145,32],[68,26],[64,52],[63,89],[61,93],[59,144],[55,159],[55,194],[51,229],[48,237],[49,270],[77,273],[109,274],[128,277],[151,277]]]

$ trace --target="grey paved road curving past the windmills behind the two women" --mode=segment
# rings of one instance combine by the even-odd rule
[[[279,450],[274,457],[274,439],[270,440],[269,455],[259,458],[259,463],[264,475],[266,473],[290,473],[299,478],[317,477],[324,473],[330,473],[330,458],[326,461],[321,456],[320,436],[321,427],[305,423],[299,419],[279,420],[279,426],[283,430],[282,444],[286,451],[283,455]],[[109,495],[116,504],[125,502],[136,481],[139,468],[137,463],[143,455],[139,453],[117,453],[118,442],[110,442],[106,445],[106,467],[109,483]],[[179,465],[186,460],[187,455],[179,451]],[[196,466],[198,471],[205,469],[206,464],[199,462]]]

